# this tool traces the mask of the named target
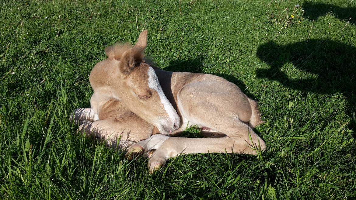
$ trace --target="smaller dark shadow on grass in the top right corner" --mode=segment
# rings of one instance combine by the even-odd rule
[[[310,20],[318,20],[320,16],[324,16],[329,12],[334,14],[340,20],[349,21],[356,25],[356,7],[339,7],[331,4],[305,2],[302,5],[304,16]]]

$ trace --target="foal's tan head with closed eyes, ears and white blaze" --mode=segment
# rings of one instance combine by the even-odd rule
[[[180,125],[180,118],[164,95],[155,70],[143,58],[147,30],[142,31],[135,46],[127,44],[105,48],[109,57],[95,65],[90,73],[94,91],[110,93],[132,112],[169,134]]]

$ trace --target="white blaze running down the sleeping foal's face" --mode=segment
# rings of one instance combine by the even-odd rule
[[[157,91],[159,99],[161,99],[161,103],[163,104],[164,110],[166,110],[169,119],[171,119],[173,123],[179,121],[180,119],[177,111],[174,110],[171,102],[169,102],[166,95],[164,95],[161,85],[159,84],[157,74],[152,67],[148,69],[148,87]]]

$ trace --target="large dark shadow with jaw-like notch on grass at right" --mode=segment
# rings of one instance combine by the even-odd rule
[[[283,86],[306,93],[334,94],[342,93],[349,102],[347,112],[352,117],[350,126],[355,130],[355,84],[356,84],[356,48],[332,40],[309,40],[286,45],[275,42],[261,44],[257,48],[257,57],[269,64],[269,69],[258,69],[257,78],[278,81]],[[304,71],[315,78],[289,79],[281,71],[285,63],[293,63],[294,68]],[[293,77],[292,70],[288,73]]]

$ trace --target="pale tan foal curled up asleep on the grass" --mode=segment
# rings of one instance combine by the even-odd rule
[[[179,154],[265,150],[265,142],[252,130],[263,122],[255,101],[215,75],[152,67],[143,57],[146,46],[147,30],[133,47],[105,48],[108,58],[89,77],[91,108],[76,109],[71,116],[79,131],[127,148],[129,158],[146,153],[150,173]],[[169,136],[192,125],[210,137]]]

